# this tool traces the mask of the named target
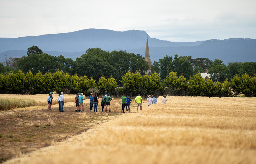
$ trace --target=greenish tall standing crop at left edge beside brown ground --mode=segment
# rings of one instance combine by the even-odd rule
[[[29,99],[0,99],[0,110],[35,106],[35,103],[35,100]]]

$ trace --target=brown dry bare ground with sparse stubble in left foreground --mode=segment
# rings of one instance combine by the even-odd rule
[[[47,107],[1,111],[0,163],[64,141],[115,118],[121,114],[118,102],[112,102],[114,105],[111,105],[111,113],[102,113],[101,104],[98,105],[98,112],[89,111],[89,103],[85,103],[85,112],[75,112],[75,106],[65,107],[67,103],[64,104],[64,112],[59,112],[58,107],[52,107],[52,111]]]

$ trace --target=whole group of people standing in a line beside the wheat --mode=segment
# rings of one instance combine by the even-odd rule
[[[48,95],[47,101],[48,101],[48,110],[51,110],[51,106],[52,106],[52,92],[50,92],[50,94]],[[75,97],[75,104],[76,104],[76,112],[84,112],[84,94],[83,93],[77,93],[76,97]],[[110,94],[106,94],[105,96],[101,97],[101,107],[102,107],[102,112],[104,112],[104,108],[105,108],[105,112],[107,112],[107,109],[109,108],[109,112],[111,112],[110,110],[110,101],[112,100],[112,98],[110,97]],[[125,96],[125,94],[123,94],[123,96],[121,97],[122,100],[122,109],[121,109],[121,113],[125,113],[124,109],[126,108],[126,111],[130,112],[130,103],[132,102],[132,100],[130,99],[130,97],[127,95]],[[58,96],[58,103],[59,103],[59,111],[60,112],[64,112],[63,111],[63,105],[64,105],[64,92],[61,92]],[[98,101],[99,101],[99,97],[98,94],[94,94],[90,93],[90,111],[93,110],[94,112],[98,112]],[[139,112],[139,107],[140,110],[142,110],[142,97],[140,96],[140,94],[138,94],[135,98],[136,104],[137,104],[137,112]],[[166,96],[163,96],[162,99],[162,103],[166,104],[167,99]],[[148,95],[147,98],[147,105],[150,106],[152,104],[156,104],[157,103],[157,99],[155,97],[155,95],[151,94]],[[93,108],[94,106],[94,108]],[[128,108],[127,108],[128,106]]]

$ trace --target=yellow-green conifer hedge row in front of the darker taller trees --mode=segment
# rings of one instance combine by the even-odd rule
[[[120,86],[117,79],[104,75],[96,79],[88,76],[71,76],[68,73],[57,70],[55,73],[32,74],[31,71],[26,74],[22,70],[17,73],[10,72],[7,75],[0,74],[0,92],[1,94],[47,94],[55,91],[60,93],[64,91],[67,94],[76,94],[83,92],[89,95],[90,92],[97,92],[101,95],[110,93],[113,96],[119,96],[125,93],[135,96],[140,93],[142,96],[148,94],[170,95],[170,96],[238,96],[244,94],[246,97],[256,96],[256,77],[250,77],[245,73],[242,77],[235,75],[231,80],[225,79],[223,83],[213,82],[208,79],[205,81],[200,72],[193,75],[188,80],[184,75],[177,75],[177,72],[171,71],[166,78],[161,80],[157,73],[142,75],[140,72],[127,72],[120,80]]]

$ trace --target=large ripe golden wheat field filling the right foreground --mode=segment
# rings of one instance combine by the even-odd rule
[[[256,98],[162,98],[6,163],[256,163]]]

